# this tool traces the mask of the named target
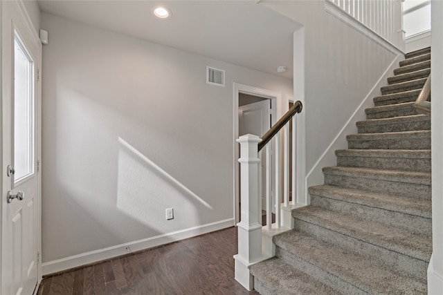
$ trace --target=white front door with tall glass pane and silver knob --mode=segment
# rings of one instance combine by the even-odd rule
[[[1,1],[1,294],[33,294],[39,269],[42,44],[17,1]]]

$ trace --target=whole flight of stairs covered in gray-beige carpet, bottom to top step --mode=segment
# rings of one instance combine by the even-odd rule
[[[275,257],[251,266],[260,294],[426,294],[431,236],[431,117],[413,102],[431,48],[408,53],[359,134],[310,187]]]

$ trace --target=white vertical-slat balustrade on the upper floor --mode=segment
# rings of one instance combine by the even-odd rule
[[[325,0],[386,39],[404,48],[403,8],[401,0]]]

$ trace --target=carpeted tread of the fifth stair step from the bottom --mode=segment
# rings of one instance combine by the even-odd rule
[[[331,166],[323,167],[323,174],[343,175],[374,180],[390,180],[413,184],[431,185],[431,173],[416,171],[381,170],[359,167]]]

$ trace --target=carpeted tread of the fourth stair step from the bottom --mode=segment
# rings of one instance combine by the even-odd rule
[[[309,187],[309,194],[422,218],[431,218],[432,215],[431,200],[374,193],[360,189],[347,189],[325,184]]]

